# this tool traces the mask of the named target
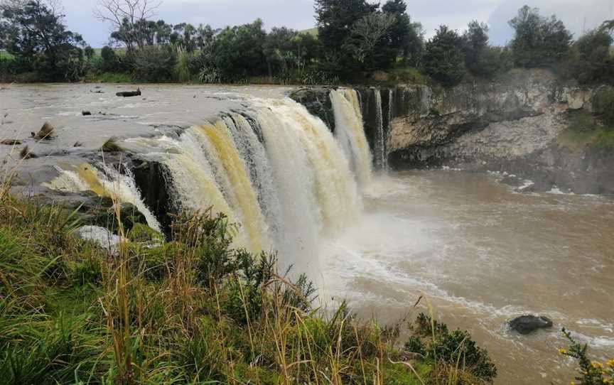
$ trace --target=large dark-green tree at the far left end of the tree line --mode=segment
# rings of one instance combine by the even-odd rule
[[[9,0],[0,4],[0,45],[24,71],[70,80],[82,69],[83,38],[66,30],[57,2]]]

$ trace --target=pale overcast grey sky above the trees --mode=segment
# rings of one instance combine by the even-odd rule
[[[107,43],[109,26],[93,16],[96,2],[63,0],[63,6],[68,27],[81,33],[92,47],[102,47]],[[614,19],[614,0],[406,0],[406,4],[411,18],[424,26],[427,38],[441,24],[460,32],[475,19],[488,23],[491,43],[495,44],[510,40],[512,31],[507,21],[524,4],[539,8],[544,15],[556,13],[575,36],[603,20]],[[210,24],[214,28],[262,18],[266,28],[288,26],[303,30],[315,26],[313,14],[313,0],[164,0],[156,18],[173,24]]]

